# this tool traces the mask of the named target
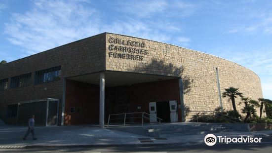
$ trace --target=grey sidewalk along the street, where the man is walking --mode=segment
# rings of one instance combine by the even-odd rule
[[[32,140],[30,134],[27,140],[23,136],[27,127],[0,126],[0,148],[35,148],[35,147],[94,147],[117,145],[193,145],[204,144],[202,135],[186,135],[167,138],[153,138],[111,129],[101,129],[94,126],[49,126],[36,127],[38,140]],[[256,132],[222,132],[216,136],[272,136],[272,130]]]

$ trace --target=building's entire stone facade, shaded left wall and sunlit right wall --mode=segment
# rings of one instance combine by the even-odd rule
[[[184,103],[191,111],[213,111],[219,105],[216,68],[221,92],[230,86],[246,97],[263,97],[260,78],[238,64],[194,50],[152,40],[103,33],[0,66],[0,79],[61,66],[61,79],[0,91],[0,116],[6,106],[21,101],[57,98],[62,102],[63,78],[103,71],[131,72],[182,78]],[[106,81],[107,82],[107,81]],[[223,108],[232,110],[228,98]],[[236,99],[236,103],[239,99]],[[61,104],[61,103],[60,103]],[[236,105],[237,110],[243,106]],[[60,107],[61,109],[61,107]],[[61,118],[61,117],[59,117]],[[6,120],[8,121],[8,120]],[[9,119],[10,122],[12,119]]]

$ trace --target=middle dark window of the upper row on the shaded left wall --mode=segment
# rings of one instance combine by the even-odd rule
[[[31,84],[31,73],[11,77],[10,88],[28,86]]]

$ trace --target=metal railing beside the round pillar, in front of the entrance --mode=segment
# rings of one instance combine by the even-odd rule
[[[115,116],[115,117],[113,117]],[[112,117],[112,118],[111,118]],[[125,126],[128,123],[142,123],[144,125],[144,119],[151,120],[151,117],[154,118],[153,121],[161,123],[162,119],[153,115],[150,115],[146,112],[137,112],[137,113],[122,113],[122,114],[111,114],[108,118],[108,127],[111,120],[115,120],[115,123],[121,123]],[[127,121],[128,120],[128,121]],[[136,120],[136,121],[135,121]]]

